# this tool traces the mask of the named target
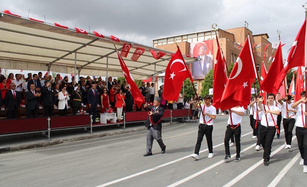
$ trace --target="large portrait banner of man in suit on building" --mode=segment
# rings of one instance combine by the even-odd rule
[[[192,42],[190,48],[190,55],[200,59],[191,65],[193,79],[204,79],[213,68],[213,40]]]

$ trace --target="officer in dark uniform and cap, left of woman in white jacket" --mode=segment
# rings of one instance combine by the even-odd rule
[[[54,89],[51,88],[51,81],[45,82],[45,86],[41,89],[41,95],[43,97],[44,116],[51,117],[53,115],[53,109],[55,107]]]

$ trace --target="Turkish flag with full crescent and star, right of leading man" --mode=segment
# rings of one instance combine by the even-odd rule
[[[186,78],[190,78],[193,82],[191,72],[178,48],[165,70],[163,98],[169,101],[177,101],[183,81]]]

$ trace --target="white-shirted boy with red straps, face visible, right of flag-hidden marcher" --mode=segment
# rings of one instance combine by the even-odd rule
[[[279,115],[279,109],[277,106],[274,105],[275,95],[268,94],[267,100],[268,105],[262,105],[263,97],[258,101],[259,110],[263,111],[262,118],[261,118],[261,125],[260,125],[260,137],[261,137],[261,144],[263,146],[263,163],[264,166],[269,166],[270,154],[272,149],[273,139],[276,133],[276,129],[278,126],[277,116]]]

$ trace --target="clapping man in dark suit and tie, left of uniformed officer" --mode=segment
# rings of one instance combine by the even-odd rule
[[[31,117],[31,114],[33,114],[33,117],[37,117],[38,100],[41,94],[35,91],[35,84],[31,84],[30,89],[31,90],[25,93],[25,98],[27,100],[27,104],[25,105],[25,108],[27,109],[26,116]]]

